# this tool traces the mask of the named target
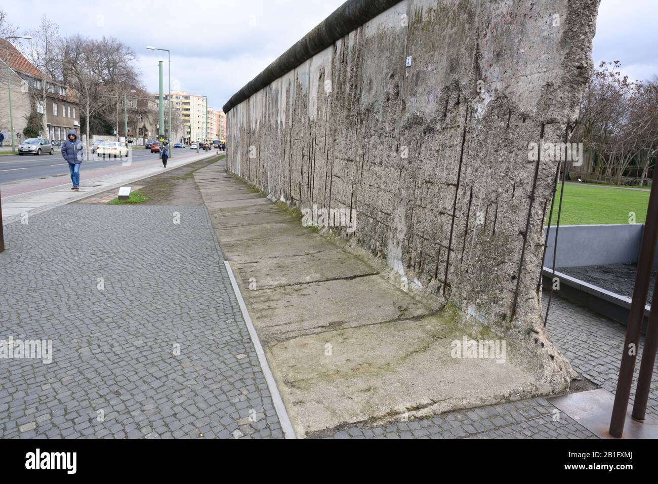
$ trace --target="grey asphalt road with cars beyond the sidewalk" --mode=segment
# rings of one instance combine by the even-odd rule
[[[187,153],[190,148],[173,149],[174,157],[177,152]],[[132,161],[148,161],[158,159],[158,153],[151,153],[150,149],[133,149]],[[84,161],[83,167],[89,168],[103,168],[113,165],[121,164],[126,159],[94,159],[93,161]],[[0,184],[9,182],[16,182],[18,180],[30,180],[33,178],[46,178],[48,176],[68,175],[67,163],[62,158],[59,149],[55,149],[53,155],[11,155],[0,156]]]

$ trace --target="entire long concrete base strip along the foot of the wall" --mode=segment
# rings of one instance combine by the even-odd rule
[[[542,393],[513,342],[503,360],[453,358],[465,335],[499,336],[434,312],[267,198],[243,198],[223,162],[194,176],[297,437]]]

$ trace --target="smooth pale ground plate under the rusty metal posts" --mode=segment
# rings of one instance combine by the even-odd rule
[[[610,417],[613,413],[615,395],[605,389],[570,393],[548,400],[580,425],[601,439],[614,439],[610,435]],[[630,406],[629,406],[630,407]],[[644,422],[631,418],[632,408],[628,409],[622,439],[658,439],[658,421],[647,414]]]

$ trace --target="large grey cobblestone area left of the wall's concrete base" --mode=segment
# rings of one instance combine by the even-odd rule
[[[65,205],[5,240],[0,340],[53,361],[0,358],[1,438],[282,437],[205,207]]]

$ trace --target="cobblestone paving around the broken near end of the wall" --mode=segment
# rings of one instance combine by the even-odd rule
[[[544,304],[545,304],[544,298]],[[544,306],[545,309],[545,306]],[[610,392],[617,388],[621,348],[626,327],[553,297],[547,328],[553,342],[571,360],[578,373]],[[642,344],[640,344],[642,348]],[[636,367],[636,377],[639,361]],[[658,410],[654,369],[653,391],[647,412]],[[634,392],[635,387],[633,387]],[[392,421],[383,425],[361,423],[340,429],[316,432],[309,438],[324,439],[597,439],[574,419],[557,412],[545,398],[530,398],[472,410],[458,410],[434,417]]]

